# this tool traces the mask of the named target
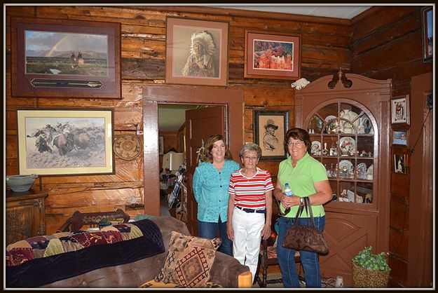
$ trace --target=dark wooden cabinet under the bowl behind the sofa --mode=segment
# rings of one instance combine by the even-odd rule
[[[46,192],[6,191],[6,245],[46,234],[44,199]]]

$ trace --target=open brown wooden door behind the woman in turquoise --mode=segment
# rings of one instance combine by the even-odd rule
[[[192,178],[197,166],[198,148],[210,135],[226,137],[225,107],[207,107],[186,111],[186,179],[187,179],[187,226],[191,235],[198,236],[198,204],[193,196]]]

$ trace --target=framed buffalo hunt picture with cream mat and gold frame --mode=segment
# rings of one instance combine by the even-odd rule
[[[114,109],[17,109],[21,175],[114,174]]]

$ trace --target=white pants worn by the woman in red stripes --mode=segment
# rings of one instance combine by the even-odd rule
[[[233,257],[240,264],[249,266],[252,280],[256,275],[259,261],[261,229],[265,224],[265,214],[244,212],[234,207],[233,210]]]

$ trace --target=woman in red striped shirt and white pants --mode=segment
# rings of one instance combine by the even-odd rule
[[[240,149],[243,168],[231,175],[226,232],[233,240],[233,257],[256,275],[260,241],[271,236],[271,174],[257,167],[261,149],[249,142]],[[266,217],[265,217],[266,216]]]

